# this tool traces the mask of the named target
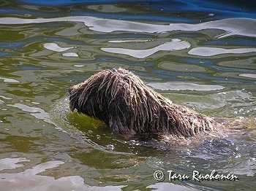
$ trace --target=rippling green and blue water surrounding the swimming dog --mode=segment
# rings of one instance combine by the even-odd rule
[[[1,189],[255,190],[254,2],[19,2],[0,7]],[[175,103],[246,128],[167,145],[69,112],[69,87],[119,66]],[[196,171],[238,179],[198,182]]]

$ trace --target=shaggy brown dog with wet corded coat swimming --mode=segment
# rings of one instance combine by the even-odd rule
[[[107,69],[69,89],[69,107],[105,122],[123,136],[194,136],[214,120],[172,104],[132,72]]]

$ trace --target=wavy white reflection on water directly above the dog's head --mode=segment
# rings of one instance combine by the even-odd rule
[[[149,55],[153,55],[155,52],[160,50],[183,50],[190,47],[189,42],[181,41],[180,39],[173,39],[171,42],[165,42],[164,44],[160,44],[157,47],[153,47],[150,49],[143,49],[143,50],[132,50],[126,48],[109,48],[109,47],[102,47],[101,50],[105,52],[112,52],[124,55],[130,55],[134,58],[146,58]]]

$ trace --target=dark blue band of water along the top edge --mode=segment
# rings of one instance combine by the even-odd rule
[[[7,1],[8,2],[8,1]],[[201,22],[209,20],[219,20],[230,17],[256,17],[256,2],[255,1],[17,1],[21,5],[39,5],[42,7],[50,7],[53,9],[51,12],[39,11],[37,9],[29,9],[29,7],[23,7],[18,9],[10,7],[1,9],[2,15],[34,15],[36,17],[63,17],[67,15],[84,15],[105,17],[111,19],[121,20],[150,20],[160,22],[182,22],[182,23],[197,23],[200,19]],[[132,5],[133,8],[140,9],[140,12],[126,12],[118,11],[113,12],[95,12],[93,10],[85,10],[83,6],[86,5],[100,5],[100,4],[127,4]],[[58,8],[66,8],[67,12],[55,12]],[[121,12],[121,13],[120,13]]]

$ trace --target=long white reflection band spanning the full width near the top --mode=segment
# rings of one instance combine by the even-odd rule
[[[226,36],[240,35],[256,37],[256,19],[230,18],[214,20],[207,23],[187,24],[170,23],[169,25],[156,25],[138,23],[127,20],[111,20],[98,17],[76,16],[76,17],[57,17],[57,18],[37,18],[23,19],[16,17],[1,17],[0,24],[26,24],[26,23],[50,23],[50,22],[83,22],[92,31],[110,33],[113,31],[132,31],[145,33],[162,33],[167,31],[200,31],[204,29],[219,29],[225,31],[217,38]]]

